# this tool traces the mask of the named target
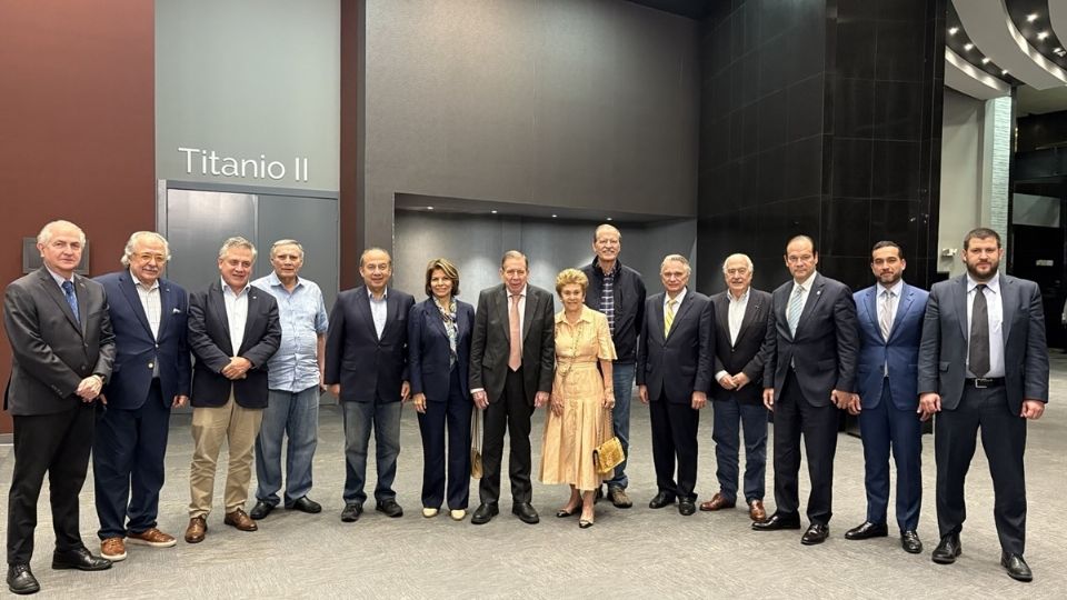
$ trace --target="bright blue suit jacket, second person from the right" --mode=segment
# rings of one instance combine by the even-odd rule
[[[881,401],[882,369],[888,367],[893,404],[899,410],[915,412],[919,406],[919,340],[923,338],[923,316],[929,293],[907,283],[900,288],[897,313],[887,340],[882,338],[878,323],[878,296],[881,290],[881,286],[871,286],[852,297],[859,326],[856,390],[864,410],[876,408]]]

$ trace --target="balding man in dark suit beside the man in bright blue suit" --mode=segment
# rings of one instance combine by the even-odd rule
[[[822,543],[830,533],[838,409],[857,411],[856,303],[848,286],[822,277],[819,253],[807,236],[786,244],[792,280],[771,294],[764,340],[764,404],[775,411],[775,513],[757,531],[800,529],[800,436],[808,459],[810,524],[800,543]]]

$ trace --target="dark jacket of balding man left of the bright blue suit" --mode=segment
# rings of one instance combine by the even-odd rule
[[[771,294],[764,388],[774,388],[775,398],[779,398],[792,363],[805,399],[814,407],[826,407],[831,390],[855,391],[859,347],[856,302],[848,286],[816,272],[794,338],[786,320],[792,286],[790,279]]]

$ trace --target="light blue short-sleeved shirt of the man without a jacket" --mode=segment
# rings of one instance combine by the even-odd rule
[[[329,324],[322,290],[313,281],[297,278],[297,287],[290,292],[273,272],[252,286],[278,300],[281,346],[267,362],[267,386],[288,392],[318,386],[318,340]]]

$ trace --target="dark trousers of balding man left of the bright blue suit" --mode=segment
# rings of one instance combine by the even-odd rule
[[[834,498],[834,454],[837,452],[837,407],[816,407],[808,402],[789,371],[775,399],[775,504],[782,516],[800,510],[798,479],[800,474],[800,436],[808,459],[808,520],[812,523],[830,522]]]

